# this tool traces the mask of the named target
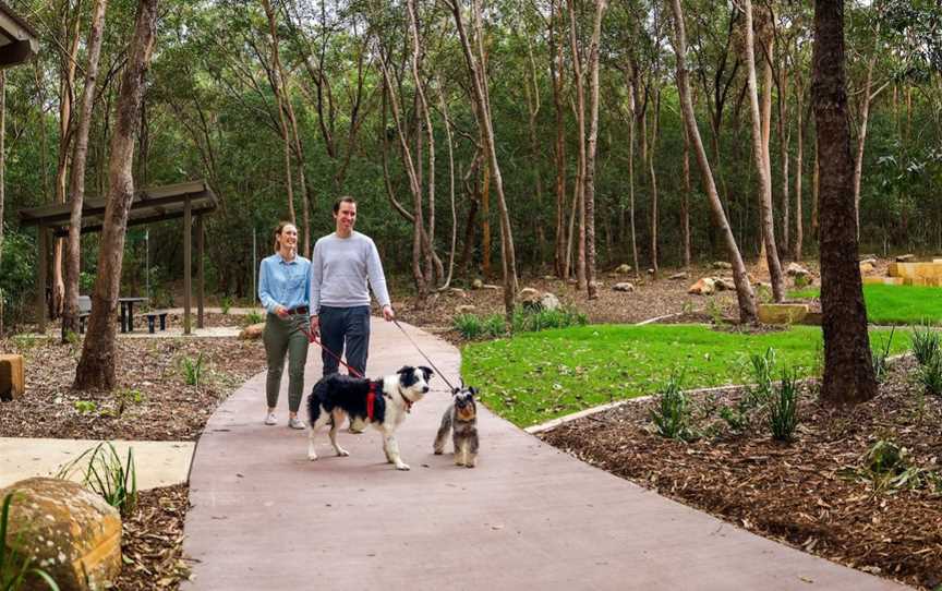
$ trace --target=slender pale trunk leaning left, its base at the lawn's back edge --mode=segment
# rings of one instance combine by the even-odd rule
[[[674,31],[675,31],[675,50],[677,55],[677,88],[680,93],[680,110],[684,116],[684,124],[687,132],[690,134],[690,141],[693,145],[693,152],[697,155],[697,164],[700,167],[700,172],[703,177],[703,186],[706,190],[706,197],[710,202],[710,209],[713,213],[713,224],[723,236],[726,243],[726,251],[729,256],[729,263],[733,265],[733,282],[736,285],[736,297],[739,303],[739,322],[741,324],[753,324],[756,322],[756,296],[752,292],[752,286],[749,285],[749,276],[746,273],[746,264],[742,262],[742,256],[739,253],[739,246],[736,244],[736,238],[733,236],[733,229],[726,219],[726,213],[723,210],[723,204],[720,201],[720,194],[716,191],[716,183],[713,180],[713,172],[710,169],[710,161],[706,159],[706,150],[703,148],[703,141],[700,138],[700,130],[697,128],[697,116],[693,112],[693,101],[690,98],[690,82],[687,72],[687,34],[684,24],[684,12],[680,8],[680,0],[672,0],[671,8],[674,12]]]

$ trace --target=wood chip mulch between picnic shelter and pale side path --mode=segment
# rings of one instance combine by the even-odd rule
[[[72,389],[81,345],[11,337],[0,352],[24,357],[26,394],[0,402],[0,436],[194,441],[216,407],[265,369],[261,341],[119,338],[114,391]],[[202,355],[202,383],[184,381]]]

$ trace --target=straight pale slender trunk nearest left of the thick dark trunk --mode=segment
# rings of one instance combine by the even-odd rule
[[[772,218],[772,179],[769,168],[769,150],[763,133],[763,113],[759,111],[759,93],[756,82],[756,45],[752,33],[752,2],[744,0],[746,13],[746,68],[749,84],[749,107],[752,113],[752,153],[756,159],[756,171],[759,176],[759,205],[761,214],[762,243],[769,262],[769,275],[772,282],[772,297],[776,302],[785,299],[785,281],[782,277],[782,265],[778,262],[778,251],[775,246],[775,225]],[[768,82],[771,77],[766,75]],[[771,92],[771,91],[770,91]],[[771,111],[771,107],[770,107]]]

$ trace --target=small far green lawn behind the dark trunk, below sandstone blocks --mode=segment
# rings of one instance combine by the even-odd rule
[[[818,298],[819,288],[789,293],[793,298]],[[942,321],[942,288],[922,286],[863,286],[867,319],[874,324],[921,324]]]

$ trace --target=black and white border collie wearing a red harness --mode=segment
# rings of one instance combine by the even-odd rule
[[[381,379],[364,379],[349,375],[330,374],[321,378],[307,397],[309,430],[307,459],[317,459],[314,436],[317,430],[330,425],[330,443],[338,456],[350,453],[337,443],[337,430],[343,419],[361,420],[383,433],[386,460],[397,470],[409,470],[399,457],[396,429],[406,420],[412,405],[428,391],[428,378],[434,372],[425,366],[406,365]]]

